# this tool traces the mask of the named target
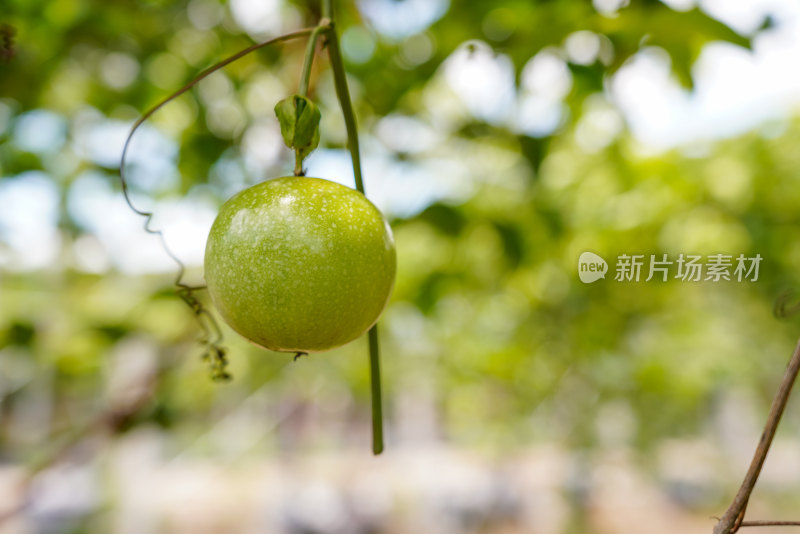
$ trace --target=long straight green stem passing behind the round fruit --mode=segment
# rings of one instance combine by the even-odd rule
[[[339,105],[342,108],[344,125],[347,130],[347,146],[350,150],[350,158],[353,160],[353,176],[356,181],[356,189],[364,194],[364,180],[361,177],[361,157],[358,152],[358,128],[356,127],[355,113],[353,113],[353,104],[350,102],[350,90],[347,88],[347,76],[344,70],[344,62],[342,61],[342,53],[339,49],[339,38],[336,35],[336,26],[333,22],[332,0],[322,0],[322,13],[323,17],[330,21],[329,29],[326,32],[328,56],[333,70],[336,96],[339,98]],[[381,367],[377,324],[369,331],[369,364],[372,390],[372,453],[378,455],[383,452],[383,398],[381,395]]]

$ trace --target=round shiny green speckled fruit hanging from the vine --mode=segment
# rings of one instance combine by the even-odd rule
[[[264,348],[319,352],[378,320],[397,258],[381,212],[358,191],[288,176],[254,185],[220,209],[205,278],[223,319]]]

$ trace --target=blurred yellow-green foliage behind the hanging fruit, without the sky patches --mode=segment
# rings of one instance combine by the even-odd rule
[[[87,229],[68,209],[70,192],[97,164],[71,141],[42,153],[10,142],[15,121],[34,109],[59,114],[68,137],[93,114],[129,123],[252,38],[227,11],[215,26],[196,27],[182,1],[10,0],[4,8],[17,30],[17,54],[0,64],[0,111],[9,115],[0,113],[0,175],[47,173],[60,194],[63,242],[58,265],[0,278],[0,376],[9,420],[23,413],[30,391],[51,395],[55,413],[44,428],[54,433],[59,418],[75,422],[99,409],[113,397],[103,390],[105,376],[131,346],[154,354],[160,377],[142,421],[174,430],[179,446],[251,395],[263,394],[278,408],[291,401],[366,413],[361,342],[289,365],[287,357],[225,330],[236,378],[211,383],[194,358],[198,328],[170,293],[170,276],[114,269],[94,275],[75,266],[75,242]],[[286,29],[316,22],[306,3],[291,9],[287,20],[294,22]],[[451,167],[434,167],[460,193],[393,221],[398,279],[382,322],[388,399],[429,399],[448,438],[489,446],[537,439],[595,446],[594,421],[609,405],[622,406],[635,420],[631,439],[645,446],[700,432],[726,392],[768,398],[796,336],[796,324],[775,320],[771,307],[780,290],[798,283],[800,127],[780,136],[748,134],[703,157],[644,156],[624,132],[594,151],[576,142],[587,102],[602,100],[609,76],[643,47],[666,51],[690,88],[692,63],[705,44],[749,47],[750,38],[698,9],[675,12],[653,1],[631,2],[615,16],[583,0],[453,1],[444,17],[407,37],[365,26],[350,3],[339,11],[345,37],[361,28],[359,38],[374,45],[366,58],[356,57],[343,40],[365,154],[380,144],[374,127],[383,117],[405,115],[432,125],[439,140],[416,152],[381,147],[392,162],[467,167],[453,175]],[[610,53],[589,65],[568,63],[570,112],[551,134],[487,124],[443,88],[443,63],[465,45],[488,43],[492,54],[509,59],[519,84],[531,58],[583,30],[600,36]],[[427,55],[409,52],[420,43]],[[310,100],[281,100],[295,92],[302,53],[299,43],[259,51],[156,114],[153,125],[180,145],[180,180],[156,196],[197,193],[221,202],[265,175],[286,174],[290,151],[253,170],[241,148],[249,127],[277,126],[276,102],[287,145],[343,148],[325,61],[317,62],[311,87],[322,111],[321,141],[319,110]],[[369,192],[383,177],[365,179]],[[606,259],[623,252],[760,253],[765,263],[762,280],[752,284],[583,285],[575,266],[584,250]],[[261,416],[277,419],[278,408]],[[391,420],[391,400],[388,408]],[[334,427],[319,433],[320,446],[324,439],[347,442],[347,429],[336,427],[337,434]],[[4,456],[26,457],[30,443],[20,436],[4,436]],[[285,443],[264,440],[266,447]]]

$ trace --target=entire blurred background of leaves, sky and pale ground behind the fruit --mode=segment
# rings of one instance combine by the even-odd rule
[[[144,110],[317,2],[0,4],[0,532],[710,532],[800,334],[773,314],[800,266],[800,5],[336,4],[399,256],[380,457],[363,339],[292,363],[226,329],[234,379],[209,378],[117,175]],[[134,200],[190,282],[219,205],[293,168],[272,108],[303,47],[134,138]],[[309,174],[352,185],[324,55],[311,94]],[[606,279],[580,282],[584,251]],[[757,281],[613,279],[619,254],[681,253],[763,261]],[[799,422],[792,401],[750,517],[798,519]]]

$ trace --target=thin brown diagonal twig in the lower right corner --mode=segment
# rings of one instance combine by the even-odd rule
[[[792,392],[792,386],[797,379],[797,374],[800,372],[800,341],[794,349],[789,365],[786,367],[786,372],[783,375],[778,393],[772,401],[772,407],[769,410],[767,423],[764,426],[764,432],[761,434],[761,439],[758,442],[758,447],[753,455],[753,460],[750,463],[750,468],[742,481],[742,485],[730,507],[722,515],[722,518],[714,527],[714,534],[733,534],[739,527],[742,526],[766,526],[757,521],[744,521],[744,514],[747,510],[747,502],[750,500],[750,494],[753,493],[753,488],[758,481],[758,475],[761,473],[761,468],[764,467],[764,461],[767,458],[772,439],[775,437],[775,431],[781,421],[783,411],[786,409],[786,403],[789,400],[789,394]]]

